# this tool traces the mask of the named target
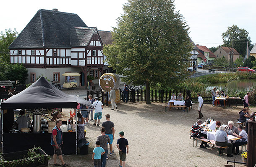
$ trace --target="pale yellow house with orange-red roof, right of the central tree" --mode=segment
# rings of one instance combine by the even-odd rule
[[[197,63],[214,63],[216,56],[206,46],[196,45],[198,48]],[[206,60],[206,61],[204,61]]]

